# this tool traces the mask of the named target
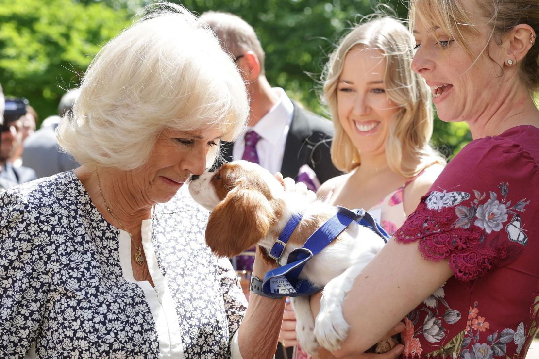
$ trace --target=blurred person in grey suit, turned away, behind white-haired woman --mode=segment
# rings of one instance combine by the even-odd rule
[[[23,163],[36,171],[38,178],[74,170],[79,164],[71,154],[62,151],[56,138],[56,128],[69,111],[79,95],[79,89],[68,90],[58,104],[59,116],[45,118],[39,130],[30,135],[23,143]]]

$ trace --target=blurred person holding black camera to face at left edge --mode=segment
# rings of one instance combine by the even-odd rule
[[[36,179],[36,172],[29,167],[15,167],[10,159],[23,144],[23,120],[26,116],[25,98],[6,98],[2,144],[0,144],[0,177],[17,185]]]

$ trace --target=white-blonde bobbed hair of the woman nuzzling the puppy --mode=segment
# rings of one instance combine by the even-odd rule
[[[247,122],[245,85],[215,34],[182,6],[148,8],[96,55],[59,125],[60,145],[80,164],[133,170],[164,129],[218,126],[232,141]]]

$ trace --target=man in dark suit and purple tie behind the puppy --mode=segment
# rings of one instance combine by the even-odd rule
[[[272,88],[264,71],[264,51],[253,28],[230,13],[205,12],[206,22],[221,46],[236,61],[250,99],[247,128],[233,144],[223,144],[224,160],[246,159],[269,172],[301,181],[316,191],[324,181],[340,174],[331,162],[333,124],[302,109],[282,88]],[[252,269],[254,253],[232,259],[236,270]],[[295,344],[295,316],[288,304],[275,358],[291,358]]]

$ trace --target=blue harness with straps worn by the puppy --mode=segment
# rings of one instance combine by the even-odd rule
[[[288,256],[287,264],[266,273],[264,281],[262,281],[262,292],[266,297],[298,297],[299,295],[310,295],[320,291],[322,288],[314,286],[310,281],[299,279],[299,274],[307,262],[326,248],[352,221],[356,221],[360,226],[368,227],[382,237],[385,243],[388,242],[390,236],[362,208],[350,210],[337,206],[337,209],[337,214],[310,235],[303,247],[296,248],[291,252]],[[293,216],[286,224],[278,240],[273,244],[269,256],[276,259],[279,265],[286,243],[298,226],[301,217],[302,215]]]

